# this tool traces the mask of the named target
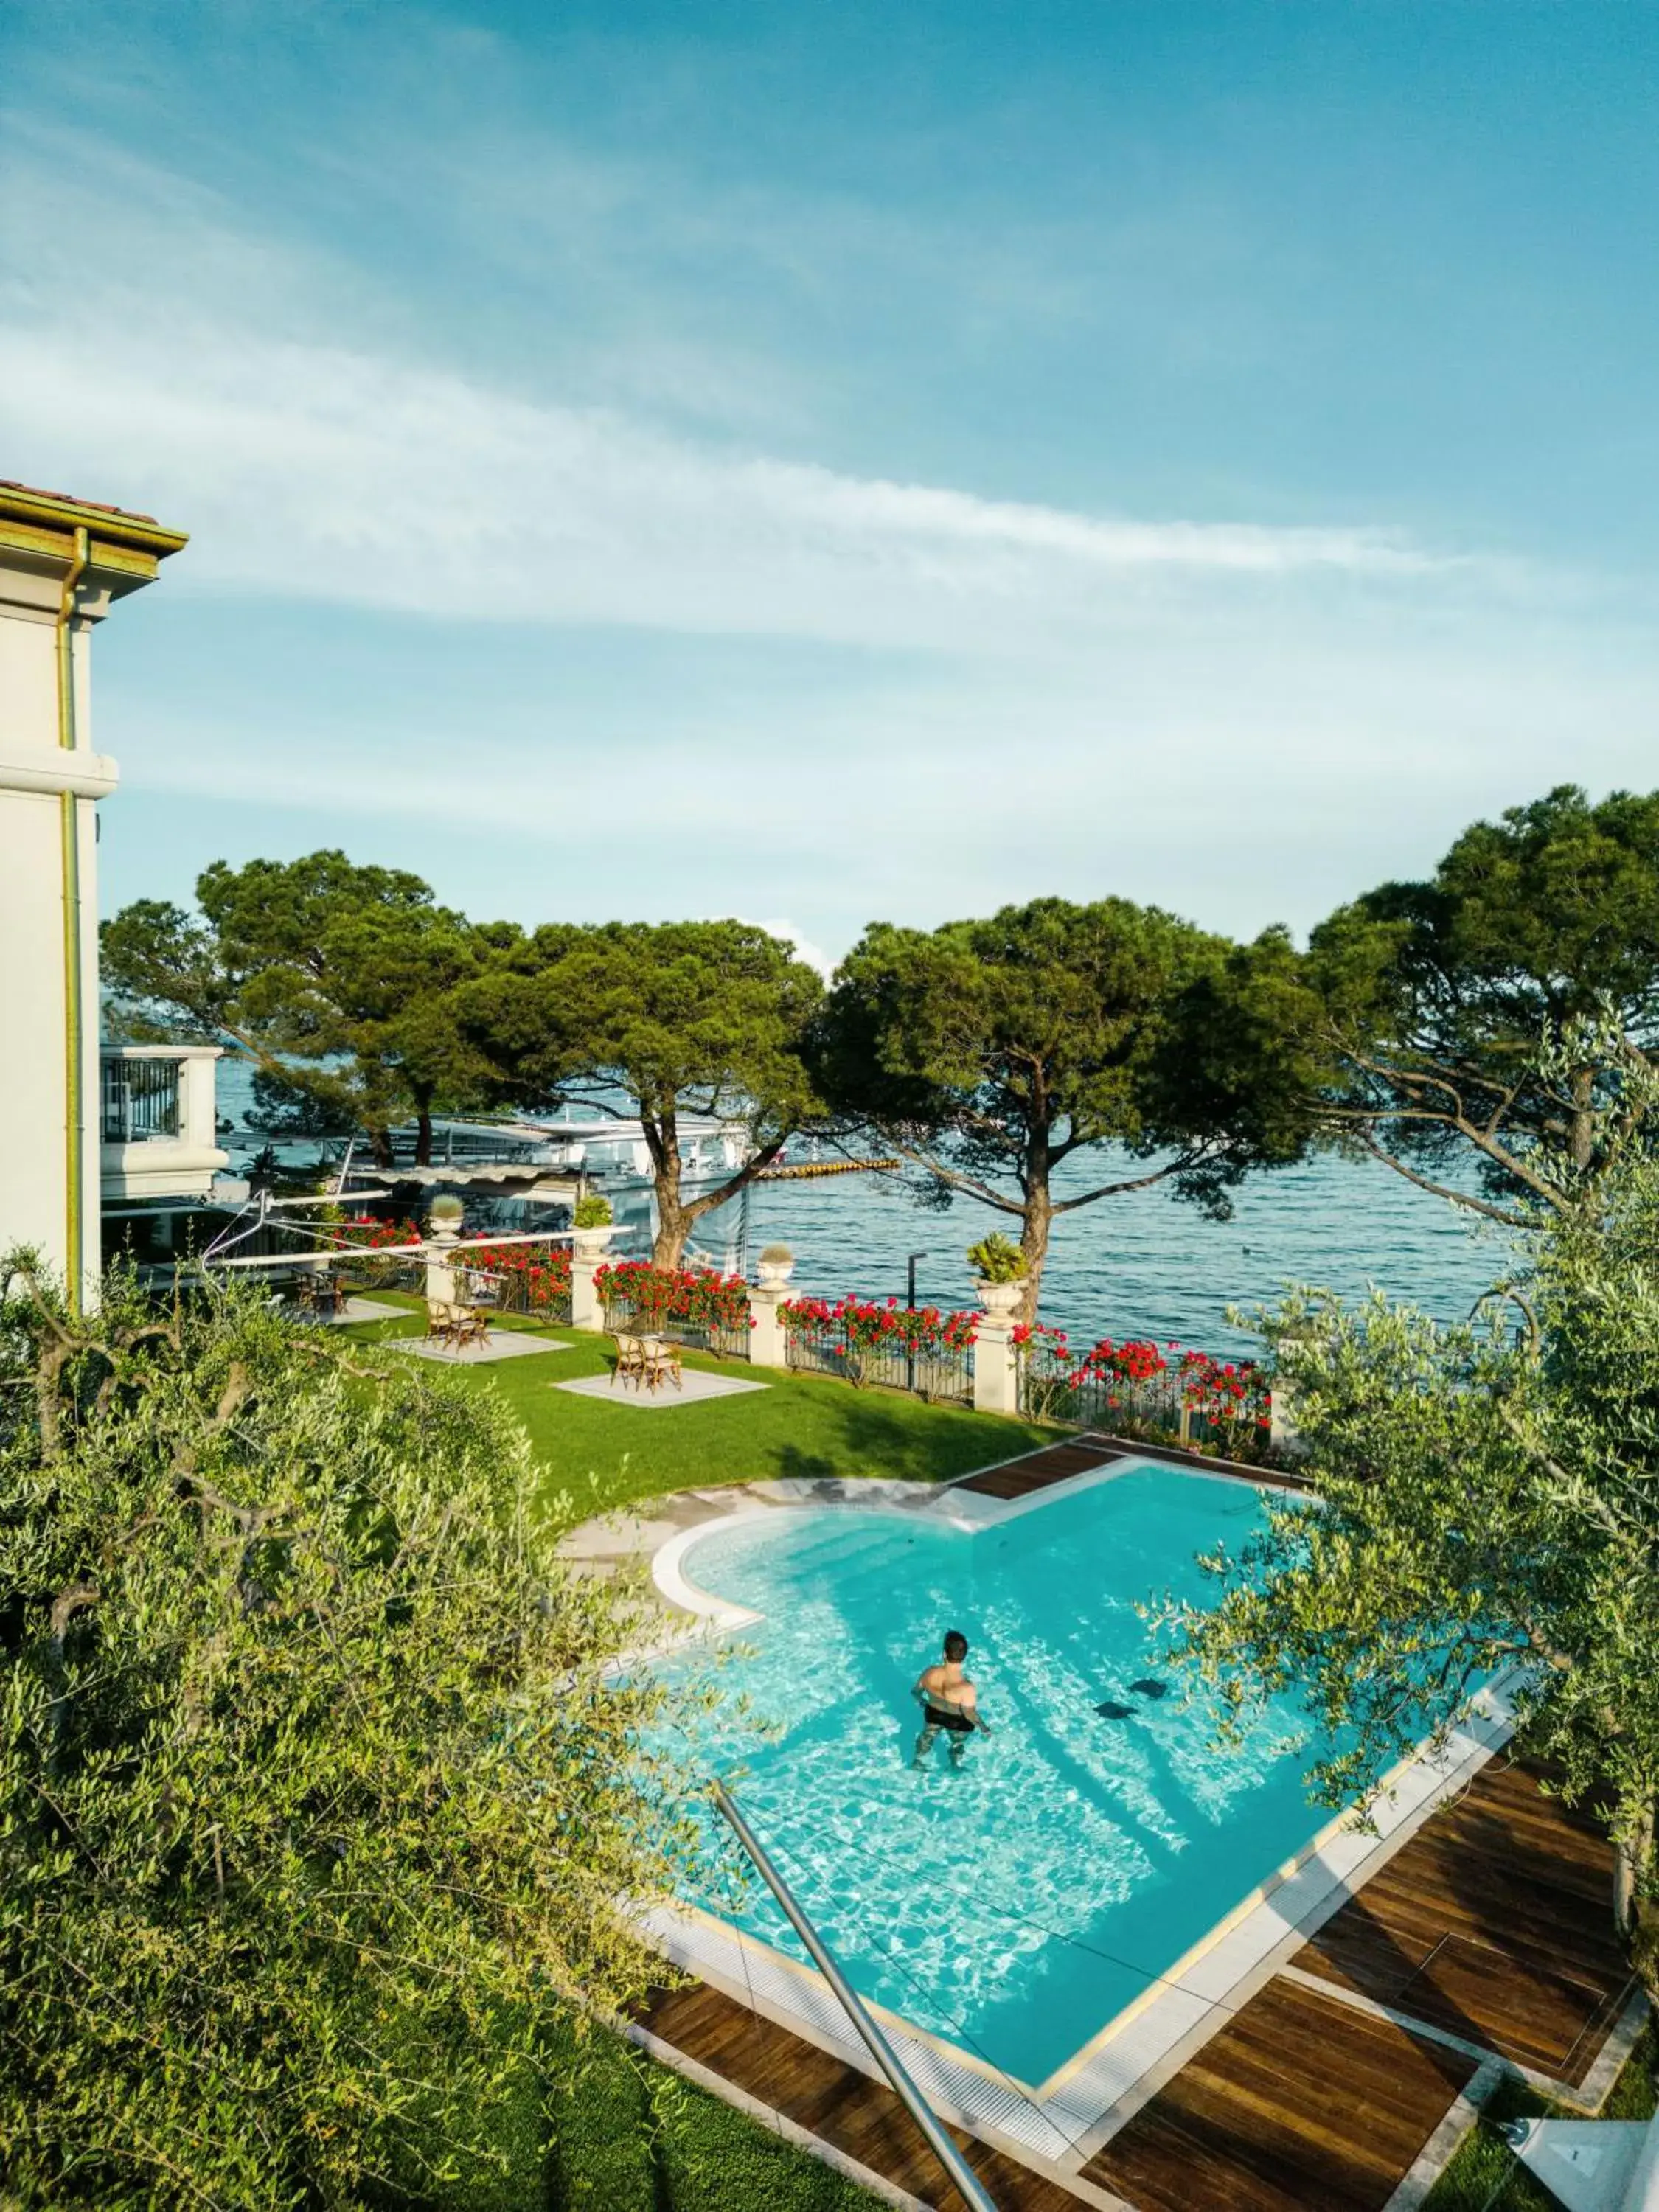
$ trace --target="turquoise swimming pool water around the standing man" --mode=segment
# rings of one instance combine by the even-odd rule
[[[690,1582],[765,1615],[699,1759],[745,1765],[743,1809],[860,1995],[1037,2084],[1329,1820],[1294,1703],[1223,1754],[1179,1683],[1133,1688],[1161,1679],[1135,1604],[1199,1595],[1194,1555],[1237,1548],[1259,1511],[1239,1482],[1148,1467],[978,1535],[834,1509],[690,1548]],[[947,1628],[993,1734],[962,1772],[938,1743],[918,1774],[909,1686]],[[697,1902],[801,1955],[730,1867],[710,1836]]]

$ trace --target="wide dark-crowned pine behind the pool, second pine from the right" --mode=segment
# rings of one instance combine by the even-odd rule
[[[1252,1166],[1298,1155],[1296,991],[1283,933],[1237,947],[1126,898],[876,922],[836,975],[814,1075],[922,1190],[1018,1217],[1031,1321],[1057,1217],[1150,1183],[1225,1214]],[[1055,1197],[1055,1170],[1099,1146],[1146,1166]]]

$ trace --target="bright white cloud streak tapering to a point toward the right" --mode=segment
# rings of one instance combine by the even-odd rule
[[[385,343],[385,316],[347,338],[325,254],[131,159],[102,184],[113,212],[73,226],[69,261],[11,230],[38,241],[0,292],[15,469],[164,511],[195,533],[181,566],[201,586],[984,653],[1086,639],[1146,593],[1460,566],[1363,524],[1073,513],[509,392]],[[9,188],[51,197],[27,164]]]

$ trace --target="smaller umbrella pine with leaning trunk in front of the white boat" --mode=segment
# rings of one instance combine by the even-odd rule
[[[509,945],[458,993],[469,1044],[522,1108],[586,1093],[639,1115],[657,1199],[657,1265],[677,1265],[697,1221],[770,1166],[812,1115],[801,1044],[823,984],[750,922],[555,927]],[[686,1197],[681,1113],[741,1121],[748,1159]]]

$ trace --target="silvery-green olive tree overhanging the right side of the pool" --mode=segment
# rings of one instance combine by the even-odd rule
[[[1540,1086],[1579,1064],[1582,1033]],[[1652,1077],[1637,1104],[1652,1135]],[[1318,1500],[1265,1495],[1265,1531],[1208,1562],[1214,1606],[1168,1621],[1234,1710],[1307,1686],[1340,1736],[1316,1767],[1332,1805],[1520,1668],[1524,1741],[1613,1807],[1630,1924],[1659,1807],[1659,1164],[1626,1146],[1588,1177],[1559,1141],[1540,1172],[1577,1203],[1533,1206],[1520,1272],[1469,1323],[1312,1292],[1263,1318]]]

